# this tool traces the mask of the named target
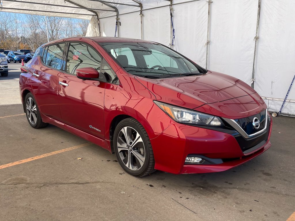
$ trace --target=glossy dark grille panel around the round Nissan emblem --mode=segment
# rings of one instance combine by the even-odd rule
[[[253,126],[253,119],[258,118],[260,121],[259,128],[256,129]],[[245,118],[240,118],[240,119],[235,119],[235,122],[245,131],[248,135],[259,132],[264,129],[265,127],[265,121],[266,121],[266,111],[263,110],[262,112],[255,114],[253,116],[245,117]]]

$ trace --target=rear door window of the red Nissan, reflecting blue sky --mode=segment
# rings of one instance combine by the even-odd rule
[[[62,59],[63,57],[63,48],[65,44],[55,44],[48,47],[48,50],[45,49],[43,59],[46,53],[46,60],[45,65],[53,67],[58,70],[64,69],[64,61]],[[44,60],[43,60],[44,62]]]

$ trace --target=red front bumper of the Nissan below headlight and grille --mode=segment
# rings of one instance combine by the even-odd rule
[[[235,130],[212,130],[174,122],[158,137],[150,140],[155,157],[155,169],[179,173],[210,173],[239,166],[271,147],[272,120],[269,116],[265,133],[244,139]],[[243,151],[248,145],[249,151]],[[190,154],[218,159],[219,164],[185,164]]]

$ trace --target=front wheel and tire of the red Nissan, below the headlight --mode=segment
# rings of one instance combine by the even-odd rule
[[[122,120],[115,128],[113,141],[117,159],[124,171],[135,177],[144,177],[155,171],[150,139],[137,120]]]

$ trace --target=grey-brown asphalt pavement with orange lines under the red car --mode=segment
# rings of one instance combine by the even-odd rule
[[[136,178],[99,146],[30,127],[19,67],[0,78],[0,220],[295,220],[295,118],[273,118],[273,146],[242,166]]]

